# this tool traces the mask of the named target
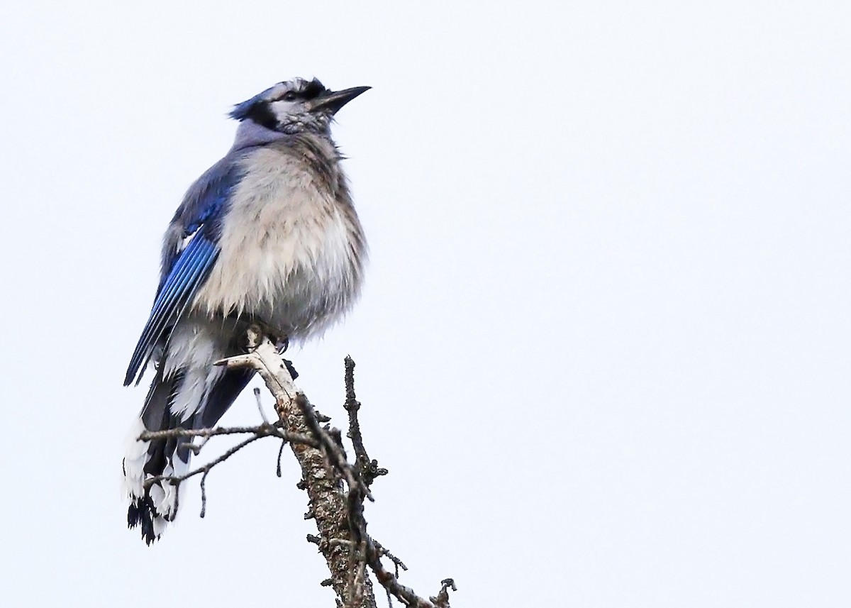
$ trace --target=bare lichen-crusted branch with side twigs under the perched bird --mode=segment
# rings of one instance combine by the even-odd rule
[[[140,440],[202,437],[205,441],[216,435],[250,433],[252,436],[227,450],[225,454],[203,467],[179,477],[161,476],[149,479],[150,485],[157,481],[169,481],[174,485],[197,474],[201,478],[201,517],[206,513],[206,480],[210,470],[242,450],[246,445],[263,437],[282,439],[277,456],[277,476],[281,476],[281,456],[287,443],[298,460],[302,479],[299,488],[307,491],[309,508],[305,519],[314,519],[318,536],[307,535],[308,542],[317,546],[323,554],[331,576],[323,586],[334,588],[337,605],[343,608],[375,608],[372,582],[368,571],[385,588],[387,597],[397,598],[403,605],[416,608],[449,608],[449,589],[455,590],[452,579],[444,579],[436,596],[421,598],[412,588],[399,582],[399,570],[407,570],[401,559],[391,554],[367,533],[367,522],[363,516],[364,500],[373,500],[369,490],[374,479],[387,473],[386,468],[371,460],[363,445],[363,434],[358,420],[361,404],[357,401],[354,388],[355,363],[346,357],[346,411],[349,417],[347,436],[351,439],[355,461],[349,462],[342,444],[340,431],[329,427],[330,419],[313,408],[304,393],[294,386],[291,368],[285,364],[275,345],[264,336],[260,327],[248,328],[249,352],[237,357],[217,361],[227,369],[248,368],[260,374],[266,387],[275,398],[278,421],[269,423],[263,414],[260,395],[255,389],[263,424],[257,427],[228,427],[213,429],[174,429],[157,433],[142,433]],[[324,425],[324,426],[323,426]],[[199,450],[200,446],[196,446]],[[394,573],[386,571],[381,558],[391,560]]]

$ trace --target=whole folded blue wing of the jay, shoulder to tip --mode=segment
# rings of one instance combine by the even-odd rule
[[[163,274],[151,316],[130,358],[124,386],[141,380],[157,344],[186,312],[219,255],[222,221],[234,186],[243,175],[234,158],[214,164],[186,193],[166,232]],[[178,245],[184,242],[180,249]],[[138,377],[137,377],[138,376]]]

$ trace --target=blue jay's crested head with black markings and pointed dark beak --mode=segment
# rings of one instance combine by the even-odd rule
[[[290,135],[327,133],[334,114],[369,87],[326,89],[316,78],[293,78],[234,106],[231,118]]]

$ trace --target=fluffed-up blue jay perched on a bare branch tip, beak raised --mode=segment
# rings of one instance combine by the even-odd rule
[[[179,501],[173,485],[146,488],[146,479],[186,473],[191,440],[137,441],[140,433],[220,419],[253,372],[214,361],[244,352],[249,323],[300,342],[357,299],[366,241],[330,125],[368,89],[294,78],[235,106],[231,150],[190,186],[168,225],[157,296],[124,378],[138,384],[155,364],[123,460],[128,525],[148,544]]]

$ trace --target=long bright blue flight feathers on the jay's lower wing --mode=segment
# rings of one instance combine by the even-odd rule
[[[186,311],[186,307],[207,278],[218,255],[218,246],[204,236],[200,229],[191,237],[186,249],[177,255],[171,272],[168,272],[157,293],[157,299],[151,308],[151,316],[148,318],[145,329],[142,330],[142,336],[136,344],[133,357],[130,358],[127,376],[124,376],[125,387],[134,379],[137,384],[139,383],[142,377],[139,373],[140,369],[144,370],[157,342]]]

